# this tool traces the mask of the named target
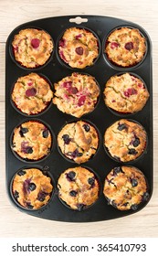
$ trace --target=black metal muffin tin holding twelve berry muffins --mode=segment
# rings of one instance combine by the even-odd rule
[[[79,22],[79,19],[84,22]],[[12,41],[14,36],[24,28],[41,28],[46,30],[50,36],[53,38],[55,47],[54,52],[50,61],[47,61],[47,65],[37,69],[26,69],[18,64],[13,59],[12,56]],[[84,27],[88,30],[94,32],[99,38],[100,56],[95,61],[94,65],[85,69],[72,69],[65,65],[62,60],[58,57],[58,41],[64,31],[68,27]],[[106,42],[106,37],[109,33],[117,27],[134,27],[138,28],[143,37],[146,38],[147,52],[144,59],[140,64],[137,64],[131,68],[121,68],[112,65],[104,54],[104,46]],[[15,81],[21,77],[29,74],[30,72],[37,72],[37,74],[43,74],[51,81],[52,84],[58,82],[62,78],[71,75],[72,72],[77,71],[80,73],[87,73],[95,77],[100,85],[100,101],[98,102],[95,110],[89,114],[84,115],[82,118],[78,119],[71,115],[60,112],[56,105],[51,104],[47,111],[37,114],[36,116],[26,116],[22,112],[16,110],[11,102],[11,92],[13,89],[13,84]],[[118,114],[111,112],[104,104],[103,91],[107,80],[111,76],[118,73],[132,72],[136,76],[140,76],[144,80],[148,91],[150,92],[150,98],[142,111],[133,114]],[[54,89],[53,89],[54,90]],[[16,157],[11,150],[10,138],[13,133],[13,129],[19,124],[26,122],[28,120],[34,120],[37,118],[39,121],[47,123],[51,127],[52,133],[55,135],[54,138],[54,148],[50,155],[41,161],[27,162]],[[119,163],[113,160],[109,155],[107,155],[103,146],[103,135],[105,130],[121,118],[132,119],[133,121],[142,124],[146,130],[148,136],[148,144],[145,152],[139,159],[129,162],[129,163]],[[87,166],[92,169],[94,173],[99,176],[100,179],[100,197],[97,202],[90,208],[85,210],[73,210],[66,207],[58,198],[57,182],[60,174],[69,167],[78,166],[68,161],[65,157],[60,155],[58,152],[57,145],[57,135],[61,127],[69,122],[75,122],[78,120],[87,120],[90,123],[94,123],[100,132],[100,146],[97,154],[90,159],[90,161],[82,164],[82,166]],[[152,73],[152,46],[151,40],[145,30],[134,24],[132,22],[122,20],[119,18],[113,18],[108,16],[57,16],[48,17],[35,21],[28,22],[26,24],[16,27],[9,35],[6,42],[6,58],[5,58],[5,161],[6,161],[6,187],[8,195],[16,206],[16,208],[22,210],[23,212],[43,218],[43,219],[53,219],[68,222],[89,222],[89,221],[99,221],[106,219],[116,219],[123,216],[130,215],[134,212],[139,211],[147,202],[142,202],[138,209],[135,211],[127,210],[121,211],[117,208],[108,205],[106,198],[104,197],[102,190],[105,177],[111,171],[111,168],[120,165],[133,165],[142,170],[142,173],[146,176],[149,184],[149,194],[151,198],[153,192],[153,73]],[[47,206],[38,210],[29,210],[21,208],[18,206],[13,199],[11,193],[11,182],[13,176],[15,176],[16,171],[25,167],[39,166],[41,169],[48,170],[48,172],[53,176],[55,193],[51,197]],[[148,199],[148,201],[149,201]]]

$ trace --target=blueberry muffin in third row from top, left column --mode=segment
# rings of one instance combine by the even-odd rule
[[[14,129],[12,149],[26,160],[40,160],[49,154],[52,136],[44,123],[28,121]]]

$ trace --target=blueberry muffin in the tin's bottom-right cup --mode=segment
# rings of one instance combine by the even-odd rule
[[[146,178],[133,166],[114,167],[105,179],[103,193],[109,204],[120,210],[136,210],[149,199]]]

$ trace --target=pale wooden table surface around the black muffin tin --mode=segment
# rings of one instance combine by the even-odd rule
[[[158,237],[158,4],[157,0],[0,0],[0,237]],[[113,16],[139,24],[153,42],[153,197],[121,219],[64,223],[38,219],[12,206],[5,189],[5,42],[18,25],[42,17]]]

